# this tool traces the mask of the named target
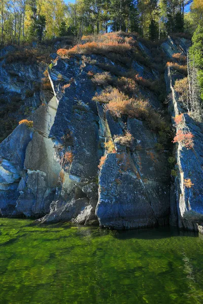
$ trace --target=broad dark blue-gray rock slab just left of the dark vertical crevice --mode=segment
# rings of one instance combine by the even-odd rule
[[[143,122],[128,119],[127,125],[134,137],[133,152],[123,149],[108,155],[99,174],[99,223],[117,229],[165,224],[169,212],[166,157],[156,152],[157,138]]]

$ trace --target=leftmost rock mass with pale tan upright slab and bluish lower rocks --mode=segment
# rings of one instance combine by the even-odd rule
[[[33,128],[19,125],[0,145],[0,210],[3,216],[35,216],[49,212],[60,165],[48,138],[57,109],[53,98],[32,116]],[[11,196],[12,194],[12,196]]]

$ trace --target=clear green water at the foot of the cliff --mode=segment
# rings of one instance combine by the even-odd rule
[[[203,303],[203,236],[0,219],[0,303]]]

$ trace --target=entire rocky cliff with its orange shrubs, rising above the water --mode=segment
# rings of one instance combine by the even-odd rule
[[[176,73],[167,67],[165,88],[157,65],[157,57],[184,53],[188,41],[168,39],[157,47],[111,35],[96,42],[84,37],[80,46],[51,55],[54,97],[30,115],[33,127],[20,124],[0,145],[0,213],[114,229],[167,223],[200,229],[201,126],[183,115],[179,128],[194,134],[194,146],[174,147],[174,180],[167,113],[175,117],[181,106]],[[172,93],[169,110],[164,91]]]

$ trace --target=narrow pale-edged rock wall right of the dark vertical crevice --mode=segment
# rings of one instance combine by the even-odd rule
[[[179,39],[179,42],[172,44],[168,40],[162,47],[168,56],[174,53],[185,52],[189,42]],[[165,72],[165,82],[167,93],[171,93],[169,102],[169,112],[172,117],[184,112],[182,105],[178,101],[177,92],[174,90],[177,75],[171,74],[170,67]],[[187,113],[182,116],[182,121],[175,125],[176,132],[189,133],[193,135],[193,146],[187,148],[181,141],[176,144],[177,177],[175,184],[171,186],[170,200],[170,223],[188,230],[202,232],[203,223],[203,171],[202,171],[202,149],[203,133],[202,126],[196,123]]]

